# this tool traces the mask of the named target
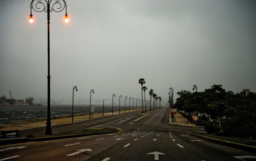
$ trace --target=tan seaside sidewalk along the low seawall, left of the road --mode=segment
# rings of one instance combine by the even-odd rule
[[[126,110],[126,113],[129,112],[129,110]],[[132,110],[130,110],[132,112]],[[135,110],[134,110],[135,112]],[[123,111],[120,111],[120,114],[123,114]],[[104,113],[104,117],[108,117],[112,115],[111,112]],[[119,115],[119,111],[114,111],[113,115]],[[102,113],[93,114],[91,113],[91,119],[102,117]],[[75,116],[73,117],[73,123],[78,123],[89,119],[89,114],[85,114],[82,116]],[[64,124],[73,124],[72,123],[72,117],[66,117],[66,118],[59,118],[59,119],[51,119],[51,126],[58,126],[58,125],[64,125]],[[24,129],[30,129],[30,128],[39,128],[46,126],[46,121],[39,121],[34,123],[27,123],[22,125],[9,125],[9,124],[0,124],[0,130],[24,130]]]

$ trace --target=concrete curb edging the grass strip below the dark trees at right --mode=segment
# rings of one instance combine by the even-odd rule
[[[221,145],[225,145],[225,146],[229,146],[235,149],[239,149],[239,150],[243,150],[243,151],[247,151],[247,152],[251,152],[251,153],[256,153],[256,146],[250,146],[250,145],[244,145],[244,144],[239,144],[239,143],[234,143],[234,142],[230,142],[230,141],[225,141],[225,140],[219,140],[219,139],[214,139],[214,138],[210,138],[210,137],[206,137],[206,136],[202,136],[202,135],[198,135],[192,132],[188,132],[189,135],[191,136],[195,136],[204,140],[208,140],[211,142],[215,142]]]

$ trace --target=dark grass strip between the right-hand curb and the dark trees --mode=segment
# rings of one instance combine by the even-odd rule
[[[215,136],[215,134],[208,134],[208,133],[201,133],[201,132],[192,132],[192,133],[202,135],[202,136],[206,136],[206,137],[209,137],[209,138],[225,140],[225,141],[230,141],[230,142],[239,143],[239,144],[256,146],[256,139]]]

